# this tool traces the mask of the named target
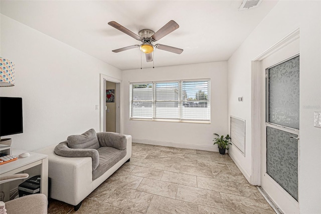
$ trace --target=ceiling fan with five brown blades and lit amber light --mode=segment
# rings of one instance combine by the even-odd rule
[[[173,32],[174,30],[180,27],[174,20],[170,20],[167,24],[165,24],[161,29],[159,29],[156,32],[152,31],[151,29],[139,30],[138,32],[139,35],[133,33],[132,31],[120,25],[116,21],[110,21],[108,22],[108,24],[126,33],[127,35],[130,35],[134,39],[141,41],[140,45],[134,44],[127,47],[122,47],[119,49],[112,50],[113,52],[120,52],[123,50],[129,50],[135,47],[139,47],[140,50],[145,53],[147,62],[152,61],[152,52],[154,51],[155,48],[170,51],[177,54],[181,54],[183,52],[183,49],[181,48],[172,47],[165,44],[152,44],[152,42],[163,38],[167,34]]]

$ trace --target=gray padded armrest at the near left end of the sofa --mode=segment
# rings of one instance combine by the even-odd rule
[[[67,141],[59,143],[55,149],[55,153],[64,157],[91,157],[92,170],[95,170],[99,164],[99,153],[93,148],[69,148]]]

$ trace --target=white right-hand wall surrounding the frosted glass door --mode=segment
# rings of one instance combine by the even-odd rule
[[[321,111],[320,1],[279,1],[228,60],[228,114],[246,119],[246,156],[233,148],[230,155],[250,176],[251,60],[300,29],[300,213],[321,213],[321,129],[313,127],[313,111]],[[238,102],[237,97],[244,101]],[[260,142],[254,142],[260,143]]]

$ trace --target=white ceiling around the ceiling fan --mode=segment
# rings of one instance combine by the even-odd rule
[[[171,19],[180,27],[154,42],[184,49],[155,49],[155,67],[227,60],[277,0],[239,11],[242,0],[1,1],[1,13],[121,70],[140,68],[139,48],[111,50],[140,41],[108,25],[116,21],[134,33],[157,31]],[[152,67],[142,55],[142,67]]]

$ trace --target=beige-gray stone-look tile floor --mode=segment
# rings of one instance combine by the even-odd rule
[[[48,213],[74,213],[51,199]],[[275,213],[228,154],[132,144],[130,162],[83,200],[76,213]]]

